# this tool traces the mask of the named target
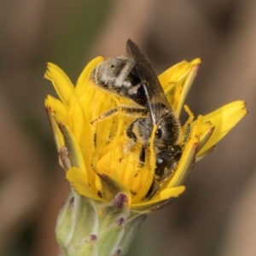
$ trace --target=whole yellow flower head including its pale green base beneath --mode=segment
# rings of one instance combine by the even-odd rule
[[[132,142],[126,132],[137,116],[116,113],[93,123],[111,109],[136,105],[95,84],[91,74],[102,61],[102,56],[90,61],[76,86],[53,63],[48,63],[44,75],[60,97],[47,96],[45,107],[60,164],[72,186],[56,225],[57,241],[65,255],[123,255],[145,214],[182,194],[184,179],[195,161],[210,153],[247,113],[245,102],[237,101],[195,119],[184,101],[200,59],[181,61],[160,74],[158,79],[176,117],[184,107],[188,120],[180,131],[178,143],[182,152],[175,167],[150,195],[148,191],[158,178],[154,132],[141,165],[143,145]]]

